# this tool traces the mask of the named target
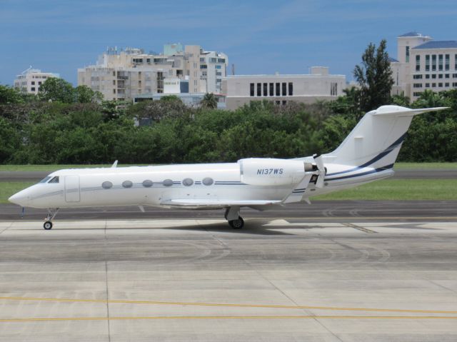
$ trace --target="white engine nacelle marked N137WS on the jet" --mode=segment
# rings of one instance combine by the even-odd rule
[[[303,161],[271,158],[240,159],[241,181],[249,185],[281,186],[298,183],[305,176]]]

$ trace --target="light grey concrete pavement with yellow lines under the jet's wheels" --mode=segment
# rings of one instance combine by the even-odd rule
[[[0,341],[457,339],[455,218],[166,212],[0,222]]]

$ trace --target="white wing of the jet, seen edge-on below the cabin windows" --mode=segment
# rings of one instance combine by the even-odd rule
[[[271,201],[271,200],[248,200],[248,201],[236,201],[233,199],[224,200],[224,199],[169,199],[162,201],[162,206],[184,206],[184,207],[219,207],[226,208],[229,206],[268,206],[271,204],[281,203],[281,201]]]

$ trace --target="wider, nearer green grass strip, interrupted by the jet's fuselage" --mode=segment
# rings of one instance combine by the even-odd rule
[[[34,182],[0,182],[0,203]],[[457,179],[385,179],[312,197],[318,201],[457,201]]]

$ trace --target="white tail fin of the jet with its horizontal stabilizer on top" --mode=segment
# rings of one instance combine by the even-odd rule
[[[447,107],[408,109],[381,106],[370,111],[338,148],[326,154],[327,162],[358,167],[386,167],[395,163],[413,116]]]

